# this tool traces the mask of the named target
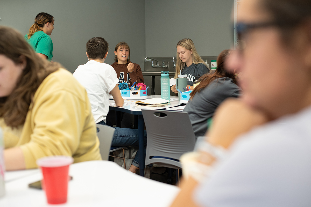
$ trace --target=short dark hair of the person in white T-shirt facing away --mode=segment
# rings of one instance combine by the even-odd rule
[[[102,37],[93,37],[86,43],[86,52],[90,59],[103,59],[108,52],[109,44]]]

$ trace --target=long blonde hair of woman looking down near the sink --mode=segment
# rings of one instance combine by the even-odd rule
[[[192,50],[192,55],[191,56],[192,56],[192,62],[194,64],[202,63],[202,64],[204,64],[207,67],[206,63],[202,60],[201,56],[199,56],[199,54],[197,54],[197,50],[194,47],[194,44],[193,44],[191,39],[184,38],[184,39],[180,40],[177,43],[176,48],[178,46],[186,48],[187,50]],[[176,57],[177,57],[177,61],[176,61],[176,71],[175,71],[174,78],[177,78],[177,75],[179,75],[179,70],[183,70],[184,67],[185,67],[185,63],[183,61],[181,61],[181,59],[180,59],[180,57],[178,55],[178,52],[176,52]]]

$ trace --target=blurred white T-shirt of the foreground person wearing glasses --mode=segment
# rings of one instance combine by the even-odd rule
[[[208,207],[311,206],[311,107],[240,137],[194,191]]]

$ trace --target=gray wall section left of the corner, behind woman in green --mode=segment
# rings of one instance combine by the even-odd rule
[[[1,0],[0,24],[28,33],[39,12],[54,16],[53,59],[72,73],[85,64],[86,42],[96,36],[109,43],[105,63],[114,62],[114,47],[124,41],[131,48],[131,61],[143,65],[145,58],[144,0]]]

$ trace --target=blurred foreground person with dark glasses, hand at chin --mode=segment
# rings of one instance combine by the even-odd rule
[[[217,109],[193,162],[212,170],[193,172],[172,206],[309,207],[311,1],[242,0],[238,11],[228,66],[243,98]]]

